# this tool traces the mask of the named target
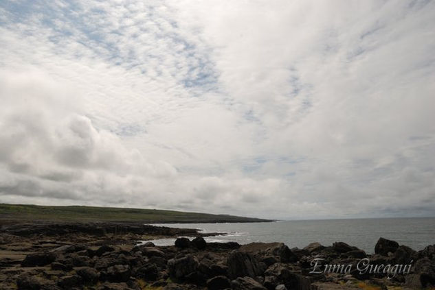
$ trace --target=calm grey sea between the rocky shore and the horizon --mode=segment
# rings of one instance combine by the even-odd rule
[[[379,237],[400,245],[422,250],[435,244],[435,217],[392,219],[328,219],[309,221],[276,221],[270,223],[170,223],[156,224],[173,228],[197,228],[202,232],[220,232],[206,241],[282,242],[291,247],[304,247],[312,242],[332,245],[343,241],[366,251],[375,252]],[[153,240],[156,245],[173,245],[175,239]]]

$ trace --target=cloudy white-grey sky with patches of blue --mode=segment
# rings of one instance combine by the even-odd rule
[[[435,1],[1,0],[0,202],[435,216]]]

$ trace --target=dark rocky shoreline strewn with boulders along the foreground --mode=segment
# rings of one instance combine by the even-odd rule
[[[190,239],[179,238],[172,246],[137,245],[179,236]],[[370,263],[372,271],[361,272],[361,262]],[[394,265],[410,268],[393,275],[382,270],[386,265],[389,271]],[[0,230],[0,289],[431,289],[434,285],[435,245],[416,252],[383,238],[370,255],[343,242],[311,243],[303,249],[283,243],[206,243],[195,229],[140,223],[21,223],[3,224]]]

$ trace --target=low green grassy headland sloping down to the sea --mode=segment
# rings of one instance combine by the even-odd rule
[[[175,210],[97,206],[35,206],[0,204],[3,221],[129,221],[141,223],[225,223],[270,221],[234,215],[185,213]]]

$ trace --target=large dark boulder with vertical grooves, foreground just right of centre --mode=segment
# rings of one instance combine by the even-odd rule
[[[237,277],[255,277],[263,274],[266,265],[257,261],[252,254],[246,252],[232,252],[227,258],[228,276],[232,279]]]

